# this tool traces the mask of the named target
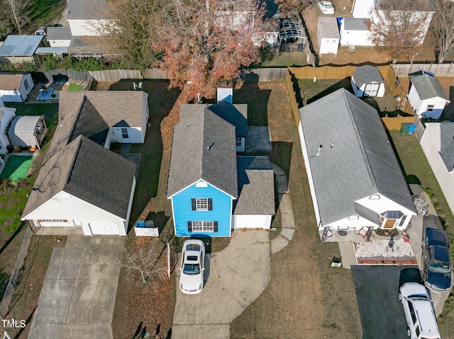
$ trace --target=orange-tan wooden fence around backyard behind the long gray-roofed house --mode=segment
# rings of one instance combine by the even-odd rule
[[[299,108],[303,105],[301,94],[299,93],[298,80],[299,79],[345,79],[353,75],[356,66],[343,66],[343,67],[288,67],[285,79],[287,80],[287,89],[289,91],[290,104],[299,126]],[[382,117],[382,121],[387,130],[400,130],[402,123],[415,122],[416,115],[414,115],[411,105],[406,100],[406,91],[400,86],[397,81],[397,76],[394,74],[394,70],[391,65],[378,66],[380,73],[383,76],[384,84],[392,91],[393,96],[401,98],[400,109],[409,116],[397,116],[397,117]],[[299,100],[297,99],[299,98]]]

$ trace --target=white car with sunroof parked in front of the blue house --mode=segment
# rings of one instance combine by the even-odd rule
[[[203,241],[184,241],[179,289],[184,294],[197,294],[204,287],[205,245]]]

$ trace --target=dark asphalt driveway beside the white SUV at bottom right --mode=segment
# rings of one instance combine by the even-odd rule
[[[406,339],[399,286],[421,282],[417,266],[352,265],[363,339]]]

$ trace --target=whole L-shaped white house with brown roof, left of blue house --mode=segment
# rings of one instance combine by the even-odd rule
[[[126,235],[136,165],[109,146],[143,142],[146,98],[141,91],[60,93],[57,129],[22,220],[78,227],[85,235]]]

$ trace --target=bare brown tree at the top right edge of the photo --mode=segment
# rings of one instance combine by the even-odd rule
[[[432,31],[436,38],[437,59],[441,63],[449,54],[454,53],[454,3],[437,0],[435,8]]]

